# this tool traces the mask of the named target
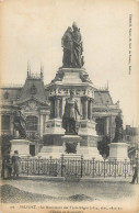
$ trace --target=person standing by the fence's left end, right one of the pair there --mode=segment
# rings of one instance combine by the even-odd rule
[[[13,179],[16,179],[20,175],[20,157],[18,150],[14,150],[12,156],[12,166],[13,166]]]

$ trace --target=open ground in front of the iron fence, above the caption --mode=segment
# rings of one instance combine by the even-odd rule
[[[130,184],[125,182],[97,182],[97,181],[46,181],[46,180],[2,180],[2,202],[16,202],[18,194],[31,193],[31,202],[46,201],[46,200],[119,200],[137,198],[136,190],[139,184]],[[11,190],[12,195],[8,195]],[[16,198],[14,198],[16,197]],[[24,197],[24,194],[22,194]],[[35,198],[35,200],[33,199]],[[27,197],[26,197],[27,198]],[[36,199],[37,198],[37,199]],[[19,201],[18,201],[19,202]],[[21,201],[20,201],[21,202]],[[25,202],[25,201],[24,201]]]

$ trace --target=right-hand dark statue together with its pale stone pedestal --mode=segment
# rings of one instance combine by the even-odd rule
[[[116,128],[113,143],[109,144],[109,160],[129,160],[128,145],[124,142],[123,119],[119,112],[115,119]]]

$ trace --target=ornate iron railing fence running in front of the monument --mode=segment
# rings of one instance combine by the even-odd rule
[[[132,161],[108,161],[92,159],[60,159],[54,158],[21,158],[20,173],[27,176],[49,176],[49,177],[68,177],[74,176],[79,178],[95,177],[131,177]]]

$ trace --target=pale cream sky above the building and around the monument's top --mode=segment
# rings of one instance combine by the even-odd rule
[[[27,61],[33,72],[44,65],[45,83],[62,61],[61,36],[76,21],[81,30],[84,67],[93,83],[107,81],[113,101],[120,101],[125,124],[137,124],[136,0],[4,0],[0,3],[3,83],[24,83]],[[131,74],[129,75],[129,14]],[[139,80],[139,79],[138,79]]]

